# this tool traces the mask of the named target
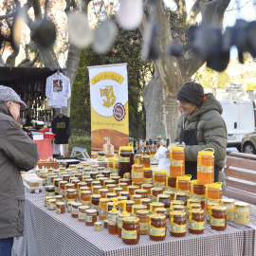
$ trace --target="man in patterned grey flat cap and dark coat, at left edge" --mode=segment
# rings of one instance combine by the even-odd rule
[[[13,238],[23,235],[25,193],[21,171],[37,164],[37,144],[17,119],[26,103],[8,86],[0,85],[0,255],[10,256]]]

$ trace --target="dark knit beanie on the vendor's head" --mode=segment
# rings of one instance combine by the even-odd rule
[[[196,106],[201,106],[204,101],[204,88],[197,82],[186,82],[177,91],[178,101],[190,102]]]

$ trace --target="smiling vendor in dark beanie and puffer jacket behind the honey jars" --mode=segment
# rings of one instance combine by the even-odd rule
[[[221,117],[219,101],[205,94],[201,84],[186,82],[176,95],[181,116],[178,119],[175,142],[185,143],[185,174],[197,177],[197,155],[206,148],[214,150],[214,182],[224,181],[222,168],[225,165],[227,127]],[[220,174],[220,177],[219,177]]]

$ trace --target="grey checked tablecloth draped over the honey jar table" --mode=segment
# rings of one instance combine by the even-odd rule
[[[95,231],[71,217],[70,212],[57,214],[44,207],[44,193],[27,194],[24,237],[14,240],[12,255],[28,256],[233,256],[256,255],[256,226],[246,227],[232,222],[225,231],[215,231],[206,225],[202,235],[187,233],[174,238],[167,232],[163,242],[154,242],[141,235],[136,246],[126,246],[107,229]]]

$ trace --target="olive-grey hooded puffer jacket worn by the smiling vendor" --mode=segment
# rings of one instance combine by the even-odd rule
[[[197,141],[198,145],[185,146],[185,160],[196,161],[199,151],[206,148],[214,150],[215,164],[223,168],[225,165],[227,148],[227,128],[221,114],[222,106],[215,97],[209,93],[206,94],[207,100],[203,105],[191,115],[181,115],[178,120],[178,127],[175,141],[179,141],[182,129],[195,129],[197,120]]]

